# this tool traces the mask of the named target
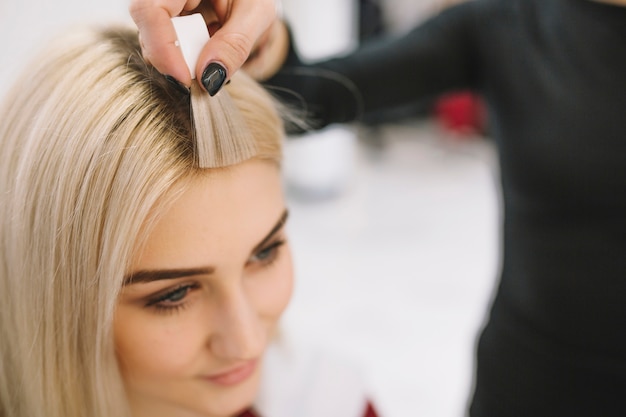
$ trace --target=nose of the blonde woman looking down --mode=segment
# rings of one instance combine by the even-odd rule
[[[247,360],[259,357],[267,335],[258,312],[244,291],[224,297],[216,317],[211,351],[222,359]]]

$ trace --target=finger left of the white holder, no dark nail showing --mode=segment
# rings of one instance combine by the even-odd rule
[[[191,74],[176,44],[176,32],[170,18],[185,7],[185,0],[132,0],[129,11],[139,29],[144,58],[162,74],[191,85]],[[196,1],[197,3],[197,1]]]

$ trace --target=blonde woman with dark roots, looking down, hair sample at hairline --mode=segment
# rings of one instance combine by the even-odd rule
[[[293,278],[266,92],[239,73],[190,100],[121,27],[36,62],[0,110],[0,416],[373,416],[348,368],[275,341]]]

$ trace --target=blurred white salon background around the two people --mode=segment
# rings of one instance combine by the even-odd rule
[[[305,59],[398,34],[442,0],[283,0]],[[0,0],[0,97],[68,25],[128,22],[128,0]],[[467,92],[290,138],[290,337],[359,366],[382,417],[461,417],[498,258],[498,173]]]

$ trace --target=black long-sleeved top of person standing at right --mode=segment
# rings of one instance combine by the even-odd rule
[[[314,128],[480,93],[503,231],[470,415],[626,415],[626,0],[469,1],[266,83]]]

